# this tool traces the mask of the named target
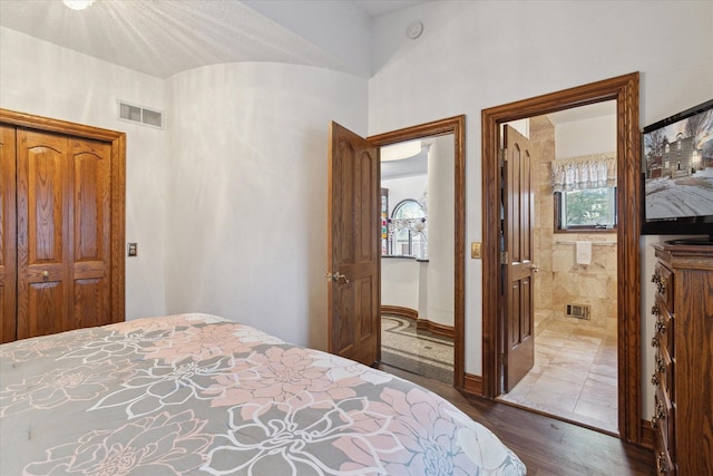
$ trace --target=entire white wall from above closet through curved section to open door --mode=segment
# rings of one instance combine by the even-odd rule
[[[0,28],[0,107],[127,134],[126,317],[202,311],[326,347],[330,122],[367,134],[367,80],[294,65],[164,81]],[[118,120],[117,99],[166,113]]]

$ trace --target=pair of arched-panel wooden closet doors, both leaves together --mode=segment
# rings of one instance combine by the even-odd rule
[[[110,145],[17,137],[18,338],[111,322]]]

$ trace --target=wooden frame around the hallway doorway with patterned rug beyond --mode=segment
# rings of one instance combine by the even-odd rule
[[[453,387],[465,386],[465,328],[466,328],[466,116],[455,116],[418,126],[406,127],[367,139],[374,146],[452,134],[455,145],[455,272],[453,272]],[[381,281],[381,276],[379,278]]]

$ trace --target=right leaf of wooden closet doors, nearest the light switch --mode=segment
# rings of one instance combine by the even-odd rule
[[[72,140],[75,327],[111,322],[111,147]]]

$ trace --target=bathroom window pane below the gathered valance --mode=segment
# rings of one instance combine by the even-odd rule
[[[558,192],[555,194],[557,230],[612,230],[616,227],[616,187]]]

